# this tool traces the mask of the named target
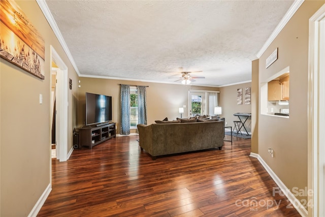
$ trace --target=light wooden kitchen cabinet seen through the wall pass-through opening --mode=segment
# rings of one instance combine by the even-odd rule
[[[268,83],[268,100],[289,100],[289,75]]]

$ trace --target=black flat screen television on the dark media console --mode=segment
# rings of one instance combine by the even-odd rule
[[[112,97],[86,92],[86,125],[112,120]]]

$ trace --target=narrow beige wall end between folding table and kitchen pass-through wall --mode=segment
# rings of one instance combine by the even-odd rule
[[[258,153],[258,59],[252,61],[252,83],[251,83],[251,152]]]

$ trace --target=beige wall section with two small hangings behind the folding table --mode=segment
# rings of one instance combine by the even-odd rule
[[[222,108],[222,115],[227,122],[227,126],[232,126],[234,129],[234,120],[239,120],[235,113],[251,113],[251,105],[245,105],[245,87],[251,87],[251,82],[220,87],[220,98],[219,106]],[[242,88],[243,90],[243,100],[241,105],[237,105],[237,89]],[[252,100],[252,99],[251,99]],[[249,117],[245,123],[245,127],[248,133],[251,132],[251,117]],[[244,128],[241,129],[242,132],[245,131]]]

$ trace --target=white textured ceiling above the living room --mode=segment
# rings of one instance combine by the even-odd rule
[[[203,71],[192,73],[203,86],[250,81],[251,61],[294,3],[45,2],[80,76],[175,83],[182,67]]]

